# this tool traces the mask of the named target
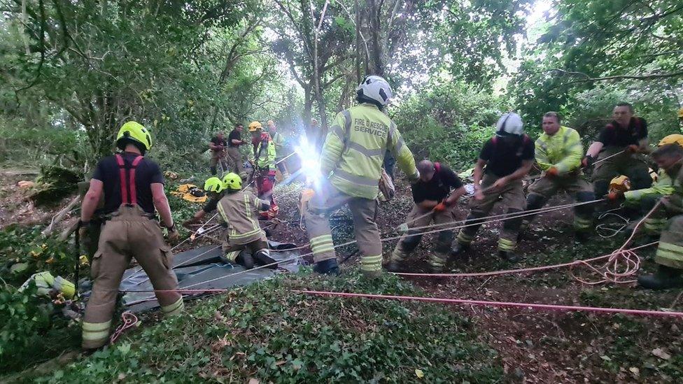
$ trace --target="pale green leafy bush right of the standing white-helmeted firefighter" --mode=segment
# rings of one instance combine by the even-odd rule
[[[500,102],[461,82],[434,82],[393,115],[416,159],[429,157],[464,171],[493,136]]]

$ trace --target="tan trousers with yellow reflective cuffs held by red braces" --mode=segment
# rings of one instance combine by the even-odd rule
[[[132,257],[145,270],[155,290],[178,289],[178,280],[171,271],[171,248],[164,242],[159,225],[144,216],[139,206],[121,206],[102,227],[92,259],[92,294],[83,317],[83,348],[99,348],[107,343],[118,288]],[[179,292],[156,292],[156,296],[164,315],[183,311]]]

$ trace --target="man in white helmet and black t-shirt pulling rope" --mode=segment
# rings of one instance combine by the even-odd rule
[[[513,218],[503,220],[498,238],[498,256],[516,262],[518,257],[514,255],[514,250],[523,218],[515,215],[526,206],[522,178],[533,165],[534,143],[524,134],[522,119],[516,113],[502,115],[496,128],[495,136],[484,143],[477,165],[474,166],[474,199],[470,200],[470,215],[465,222],[467,227],[460,229],[452,253],[459,255],[470,248],[474,235],[481,227],[479,219],[488,215],[500,200],[505,206],[505,213]]]

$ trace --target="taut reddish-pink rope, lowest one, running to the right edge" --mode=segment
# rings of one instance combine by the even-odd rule
[[[555,305],[555,304],[515,303],[515,302],[506,302],[506,301],[445,299],[445,298],[440,298],[440,297],[394,296],[394,295],[389,295],[389,294],[325,292],[325,291],[309,291],[309,290],[294,290],[293,292],[305,293],[305,294],[315,294],[315,295],[319,295],[319,296],[363,297],[366,299],[388,299],[388,300],[402,300],[402,301],[429,301],[429,302],[433,302],[433,303],[443,303],[443,304],[465,304],[465,305],[476,305],[476,306],[535,308],[535,309],[549,310],[549,311],[584,311],[584,312],[598,312],[598,313],[623,313],[625,315],[662,316],[662,317],[670,317],[670,318],[683,318],[683,312],[649,311],[649,310],[644,310],[644,309],[605,308],[605,307],[597,307],[597,306],[565,306],[565,305]]]

